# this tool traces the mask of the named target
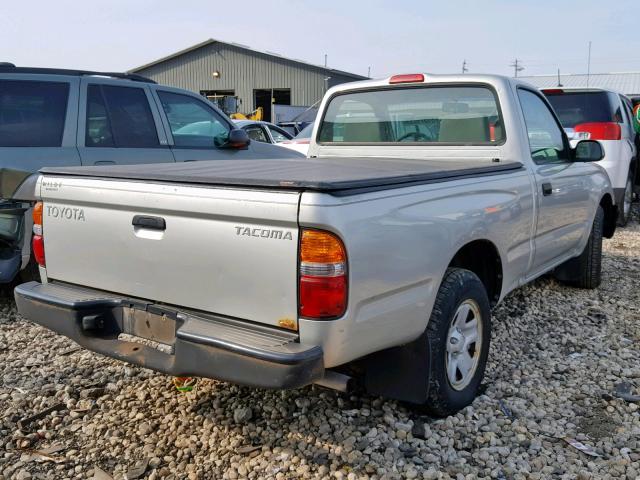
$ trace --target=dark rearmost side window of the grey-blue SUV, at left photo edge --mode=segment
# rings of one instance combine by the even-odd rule
[[[0,147],[62,145],[69,84],[0,80]]]

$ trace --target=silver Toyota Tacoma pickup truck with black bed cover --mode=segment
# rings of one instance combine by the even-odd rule
[[[546,272],[599,285],[602,148],[572,149],[535,88],[349,83],[314,129],[306,159],[41,170],[20,313],[170,375],[357,381],[448,415],[477,394],[493,305]]]

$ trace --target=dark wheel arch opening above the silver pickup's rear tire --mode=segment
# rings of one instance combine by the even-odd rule
[[[487,290],[491,306],[500,300],[504,278],[502,259],[492,241],[478,239],[465,244],[456,252],[447,268],[464,268],[472,271],[480,278]]]

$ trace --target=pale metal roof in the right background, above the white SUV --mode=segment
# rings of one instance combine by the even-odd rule
[[[627,73],[592,73],[587,75],[533,75],[530,77],[518,77],[538,88],[604,88],[628,96],[640,95],[640,72]]]

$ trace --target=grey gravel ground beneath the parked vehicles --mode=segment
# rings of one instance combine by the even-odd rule
[[[497,308],[486,390],[444,420],[311,387],[179,393],[0,300],[0,480],[640,478],[639,404],[616,395],[640,393],[637,220],[605,242],[598,290],[543,278]]]

